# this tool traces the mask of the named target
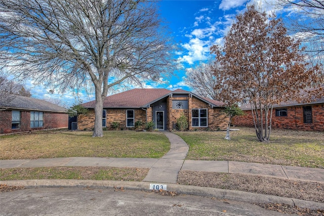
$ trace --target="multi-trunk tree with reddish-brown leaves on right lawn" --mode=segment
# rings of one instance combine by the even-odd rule
[[[268,142],[274,104],[300,101],[300,91],[310,86],[318,89],[307,93],[324,95],[319,66],[308,66],[300,42],[287,34],[280,19],[254,6],[236,19],[224,38],[224,48],[211,48],[224,69],[227,91],[222,91],[222,97],[232,104],[248,98],[258,140]]]

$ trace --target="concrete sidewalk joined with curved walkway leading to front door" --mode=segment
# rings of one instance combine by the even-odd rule
[[[188,145],[177,135],[163,132],[171,143],[170,151],[155,158],[67,157],[35,160],[0,160],[0,168],[43,166],[111,166],[149,168],[144,182],[176,183],[180,170],[225,172],[324,183],[324,169],[237,161],[185,160]]]

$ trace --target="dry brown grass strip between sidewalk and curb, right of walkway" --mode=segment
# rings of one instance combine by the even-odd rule
[[[324,184],[318,182],[181,170],[178,183],[324,202]]]

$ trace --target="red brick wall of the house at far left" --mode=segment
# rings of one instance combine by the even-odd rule
[[[68,114],[44,112],[44,126],[30,127],[30,111],[20,111],[20,128],[12,129],[12,111],[0,111],[0,134],[35,131],[39,129],[61,128],[68,126]]]

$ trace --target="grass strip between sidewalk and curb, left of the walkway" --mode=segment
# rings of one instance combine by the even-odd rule
[[[115,168],[115,167],[33,167],[2,168],[0,180],[31,179],[81,179],[81,180],[115,180],[142,181],[148,168]]]

